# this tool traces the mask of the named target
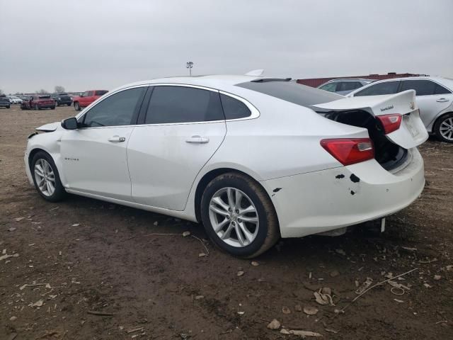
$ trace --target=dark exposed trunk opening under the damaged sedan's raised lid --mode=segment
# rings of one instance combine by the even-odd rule
[[[392,143],[380,127],[373,115],[362,110],[319,112],[325,118],[338,123],[366,128],[374,143],[374,158],[386,170],[395,169],[408,156],[408,150]]]

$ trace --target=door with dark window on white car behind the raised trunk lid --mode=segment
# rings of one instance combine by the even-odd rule
[[[453,100],[445,87],[428,79],[401,80],[400,91],[415,90],[420,118],[425,126],[430,125],[437,114],[444,111]]]

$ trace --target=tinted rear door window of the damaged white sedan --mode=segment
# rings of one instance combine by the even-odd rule
[[[186,86],[156,86],[145,124],[224,120],[218,92]]]

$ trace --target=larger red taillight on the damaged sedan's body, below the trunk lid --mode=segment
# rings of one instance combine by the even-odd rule
[[[321,147],[343,165],[364,162],[374,158],[373,143],[369,138],[321,140]]]

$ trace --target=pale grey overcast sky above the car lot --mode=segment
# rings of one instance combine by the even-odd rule
[[[0,0],[0,89],[156,77],[453,77],[453,1]]]

